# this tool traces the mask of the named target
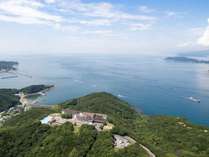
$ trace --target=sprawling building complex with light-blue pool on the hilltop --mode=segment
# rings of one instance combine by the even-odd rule
[[[102,131],[107,124],[107,115],[64,109],[61,113],[50,114],[41,120],[42,124],[51,126],[62,125],[66,122],[70,122],[77,126],[83,124],[93,125],[98,131]]]

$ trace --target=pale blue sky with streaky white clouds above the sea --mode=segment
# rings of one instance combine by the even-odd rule
[[[0,55],[209,49],[209,0],[0,0]]]

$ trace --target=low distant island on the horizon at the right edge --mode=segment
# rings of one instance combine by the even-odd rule
[[[176,62],[188,62],[188,63],[204,63],[209,64],[209,60],[203,60],[198,58],[191,58],[191,57],[167,57],[165,60],[168,61],[176,61]]]

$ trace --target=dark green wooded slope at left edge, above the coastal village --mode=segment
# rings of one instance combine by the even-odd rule
[[[19,98],[15,96],[16,89],[0,89],[0,112],[19,104]]]

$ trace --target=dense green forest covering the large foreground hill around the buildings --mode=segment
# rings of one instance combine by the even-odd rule
[[[99,112],[115,125],[110,132],[80,129],[66,123],[41,125],[39,120],[62,108]],[[8,120],[0,128],[0,156],[4,157],[147,157],[143,144],[159,157],[208,157],[209,130],[181,118],[145,116],[107,93],[94,93],[52,108],[34,108]],[[114,133],[129,135],[137,143],[122,150],[112,145]]]

